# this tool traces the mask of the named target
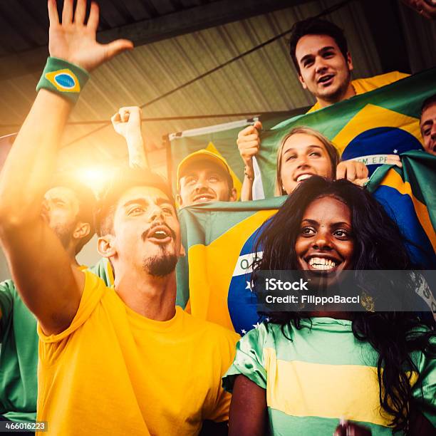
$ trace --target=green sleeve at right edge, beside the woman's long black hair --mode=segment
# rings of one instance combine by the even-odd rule
[[[431,343],[434,350],[436,336],[432,337]],[[412,388],[412,396],[422,415],[436,427],[436,359],[422,353],[418,370],[420,375]]]

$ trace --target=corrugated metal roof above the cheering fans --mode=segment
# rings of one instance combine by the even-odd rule
[[[41,3],[44,4],[43,7]],[[204,3],[209,2],[105,1],[100,4],[100,27],[105,29],[122,26],[133,19],[137,21],[152,18]],[[138,46],[93,73],[73,110],[71,121],[109,120],[121,106],[143,105],[286,31],[295,21],[319,14],[336,3],[337,0],[311,1],[300,6]],[[433,66],[436,59],[434,24],[423,20],[413,11],[401,11],[402,25],[407,26],[407,44],[413,60],[412,65],[419,69]],[[355,77],[373,76],[383,72],[375,46],[376,41],[370,33],[360,2],[352,1],[327,18],[346,31],[348,45],[353,54]],[[26,26],[36,29],[31,32],[31,36],[27,36],[24,31]],[[47,27],[45,1],[31,2],[31,5],[24,0],[1,4],[0,36],[3,37],[0,54],[9,53],[13,49],[28,50],[47,43]],[[415,30],[412,34],[411,31]],[[38,73],[32,73],[0,82],[0,124],[22,123],[35,96],[34,89],[38,76]],[[282,111],[311,103],[313,98],[301,88],[286,47],[286,40],[281,38],[201,81],[146,106],[143,115],[147,118],[160,118]],[[47,115],[50,115],[49,108]],[[165,170],[162,135],[232,120],[235,118],[143,123],[147,152],[151,153],[149,157],[153,167]],[[64,145],[98,127],[99,125],[68,126]],[[13,130],[14,128],[0,128],[0,135],[11,133]],[[87,166],[98,160],[120,162],[126,159],[126,155],[127,149],[123,140],[113,132],[111,126],[106,126],[97,133],[64,147],[61,165]]]

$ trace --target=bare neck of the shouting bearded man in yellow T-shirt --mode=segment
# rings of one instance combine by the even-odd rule
[[[169,321],[175,316],[176,289],[175,271],[156,277],[130,270],[115,279],[120,299],[136,313],[155,321]]]

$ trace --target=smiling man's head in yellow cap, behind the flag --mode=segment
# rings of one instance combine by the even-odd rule
[[[177,167],[177,202],[180,207],[204,202],[235,202],[229,165],[208,150],[193,152]]]

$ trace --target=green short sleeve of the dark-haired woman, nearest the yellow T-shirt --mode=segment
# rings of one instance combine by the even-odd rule
[[[264,344],[267,331],[264,324],[246,333],[237,343],[237,352],[232,366],[222,378],[222,386],[232,393],[234,380],[239,374],[245,375],[256,385],[266,389],[264,368]]]

